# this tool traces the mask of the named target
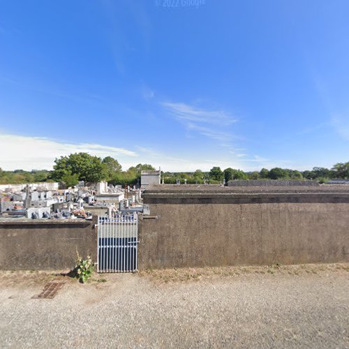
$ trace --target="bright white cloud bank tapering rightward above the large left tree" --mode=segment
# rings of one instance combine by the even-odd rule
[[[0,147],[6,149],[0,154],[0,168],[6,170],[52,169],[54,158],[76,152],[87,152],[91,155],[113,156],[125,159],[138,156],[135,151],[110,147],[94,143],[69,143],[49,138],[29,137],[23,135],[0,134]]]

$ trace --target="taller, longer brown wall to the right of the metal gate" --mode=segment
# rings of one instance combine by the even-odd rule
[[[349,191],[156,188],[139,268],[349,262]]]

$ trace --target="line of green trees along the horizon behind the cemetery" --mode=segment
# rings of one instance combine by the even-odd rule
[[[92,183],[106,180],[113,185],[125,186],[140,181],[142,170],[155,170],[152,165],[139,163],[124,171],[117,159],[111,156],[99,158],[87,153],[75,153],[61,156],[54,161],[52,171],[47,170],[15,170],[0,169],[0,184],[31,183],[39,181],[59,181],[63,186],[75,186],[79,181]],[[221,168],[215,166],[209,172],[196,170],[195,172],[161,172],[165,184],[175,184],[177,179],[188,184],[218,184],[233,179],[313,179],[325,183],[329,179],[349,179],[349,162],[336,163],[331,169],[315,167],[312,170],[299,171],[286,168],[272,168],[260,171],[244,172],[235,168]]]

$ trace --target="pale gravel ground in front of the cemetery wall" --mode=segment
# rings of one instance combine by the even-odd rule
[[[87,285],[68,279],[54,299],[31,297],[61,277],[2,272],[0,346],[349,348],[348,270],[103,274]]]

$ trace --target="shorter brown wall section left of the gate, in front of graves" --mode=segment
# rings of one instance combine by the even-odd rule
[[[1,221],[0,269],[71,269],[76,251],[96,261],[93,221]]]

